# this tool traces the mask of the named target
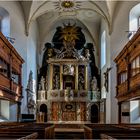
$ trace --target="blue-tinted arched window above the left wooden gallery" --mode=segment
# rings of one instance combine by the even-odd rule
[[[10,16],[7,10],[0,7],[0,31],[4,36],[10,36]]]

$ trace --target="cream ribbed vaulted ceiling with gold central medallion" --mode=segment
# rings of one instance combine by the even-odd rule
[[[20,1],[23,8],[26,31],[32,20],[40,19],[42,22],[52,24],[60,18],[73,17],[81,22],[91,22],[97,28],[103,18],[111,30],[112,18],[117,1],[95,0],[46,0],[46,1]],[[40,23],[40,20],[39,20]],[[47,24],[48,25],[48,24]],[[48,25],[49,27],[49,25]],[[90,27],[89,27],[90,28]]]

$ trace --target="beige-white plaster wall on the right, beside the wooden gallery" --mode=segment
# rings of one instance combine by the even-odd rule
[[[111,70],[111,123],[118,122],[118,105],[116,96],[116,64],[114,59],[123,49],[125,44],[129,41],[127,38],[127,32],[129,30],[129,11],[130,9],[138,3],[137,1],[122,1],[118,3],[112,25],[112,33],[110,36],[110,64]]]

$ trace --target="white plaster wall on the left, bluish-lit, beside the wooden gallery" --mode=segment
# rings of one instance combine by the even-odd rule
[[[15,38],[15,43],[13,46],[25,61],[22,67],[23,99],[21,105],[21,113],[27,113],[27,99],[25,90],[27,87],[30,70],[33,71],[34,87],[36,82],[37,23],[31,24],[29,36],[26,36],[25,21],[23,16],[24,14],[19,2],[0,1],[0,7],[5,8],[10,14],[10,37]],[[35,88],[34,91],[36,91]],[[14,115],[11,114],[11,116]]]

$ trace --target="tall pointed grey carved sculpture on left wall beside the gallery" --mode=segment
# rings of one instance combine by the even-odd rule
[[[29,80],[27,84],[27,108],[28,108],[28,113],[29,114],[34,114],[35,113],[35,100],[34,100],[34,92],[33,92],[33,72],[30,71],[29,74]]]

